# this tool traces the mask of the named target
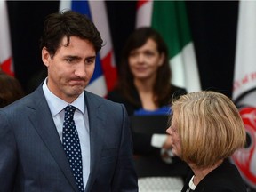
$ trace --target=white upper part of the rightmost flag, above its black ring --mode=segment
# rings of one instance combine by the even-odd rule
[[[233,100],[256,88],[256,1],[240,1]],[[256,101],[254,102],[256,107]]]

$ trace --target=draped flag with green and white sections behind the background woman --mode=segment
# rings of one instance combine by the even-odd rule
[[[196,54],[188,27],[185,2],[139,0],[137,5],[136,28],[155,28],[168,46],[172,84],[184,87],[188,92],[200,91]]]

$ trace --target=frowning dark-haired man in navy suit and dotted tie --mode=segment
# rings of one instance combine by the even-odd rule
[[[41,48],[47,78],[0,109],[1,192],[138,191],[124,106],[84,91],[101,46],[99,31],[84,15],[46,18]]]

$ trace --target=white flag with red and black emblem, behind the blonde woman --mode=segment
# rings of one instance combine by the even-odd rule
[[[231,157],[248,186],[256,189],[256,2],[240,1],[232,99],[244,121],[247,144]],[[250,190],[252,191],[252,189]],[[256,190],[255,190],[256,191]]]

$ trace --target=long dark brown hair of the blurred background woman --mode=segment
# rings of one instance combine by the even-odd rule
[[[171,86],[170,81],[172,77],[171,68],[169,65],[168,48],[164,43],[164,39],[160,34],[150,27],[137,28],[131,36],[128,37],[122,52],[121,63],[119,68],[119,89],[124,93],[127,100],[135,105],[140,105],[138,101],[134,100],[132,96],[132,89],[134,89],[133,75],[129,68],[128,58],[132,50],[146,44],[148,39],[156,42],[157,51],[164,53],[164,63],[157,70],[156,83],[154,84],[155,102],[157,105],[165,105],[166,100],[170,100]]]

